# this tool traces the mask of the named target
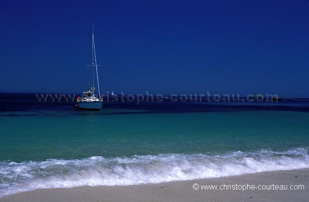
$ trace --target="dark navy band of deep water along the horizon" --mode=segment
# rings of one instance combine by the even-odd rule
[[[46,101],[43,99],[46,98],[46,95],[50,95],[52,97],[48,97]],[[65,94],[70,95],[68,101],[62,97],[59,100],[55,98],[54,95],[61,94],[1,94],[0,95],[0,112],[5,111],[39,111],[39,110],[50,110],[50,111],[68,111],[68,112],[76,112],[77,108],[72,107],[74,103],[76,104],[76,100],[72,102],[71,98],[77,98],[78,94]],[[41,98],[41,101],[38,100],[37,96]],[[111,99],[111,95],[109,95],[110,99],[107,102],[107,98],[104,98],[104,106],[103,108],[107,109],[137,109],[139,111],[145,109],[148,113],[183,113],[183,112],[206,112],[206,111],[237,111],[237,110],[275,110],[275,111],[305,111],[309,112],[309,99],[305,98],[283,98],[282,101],[247,101],[246,98],[239,98],[240,101],[233,101],[232,98],[230,101],[214,101],[213,97],[202,98],[201,101],[199,97],[194,100],[194,97],[188,96],[188,101],[180,101],[179,97],[177,101],[171,101],[170,96],[164,96],[162,101],[156,101],[154,96],[154,101],[152,101],[151,97],[149,97],[149,102],[147,102],[146,96],[144,101],[139,102],[137,104],[137,98],[133,101],[128,101],[126,97],[122,101],[120,96],[118,101],[113,101]],[[54,101],[52,100],[54,99]],[[241,101],[241,100],[244,101]],[[250,98],[253,99],[253,98]],[[131,99],[132,100],[132,99]],[[132,113],[138,113],[139,111],[133,111]],[[100,111],[100,114],[106,114],[106,111]],[[121,113],[121,112],[116,112]],[[124,112],[126,113],[126,112]]]

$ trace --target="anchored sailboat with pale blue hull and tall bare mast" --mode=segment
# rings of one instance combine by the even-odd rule
[[[100,85],[99,85],[99,76],[98,76],[96,48],[94,45],[93,25],[92,25],[91,33],[92,33],[92,65],[87,65],[87,66],[92,67],[92,87],[90,88],[90,90],[83,92],[83,98],[81,97],[77,98],[77,104],[78,104],[78,107],[81,109],[100,110],[102,108],[103,99],[100,95]],[[97,82],[98,82],[99,98],[97,98],[95,95],[95,86],[94,86],[95,72],[96,72]]]

